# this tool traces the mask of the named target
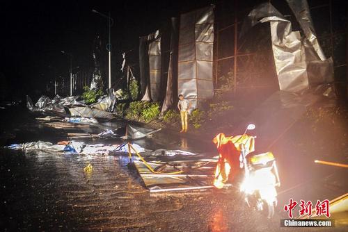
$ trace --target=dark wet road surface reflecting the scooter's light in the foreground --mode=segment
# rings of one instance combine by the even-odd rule
[[[7,143],[66,139],[66,133],[33,121],[18,122],[13,128]],[[166,131],[137,143],[149,149],[214,151],[211,143]],[[88,163],[93,165],[90,174],[84,172]],[[0,149],[1,230],[318,231],[280,228],[281,208],[269,220],[246,208],[235,190],[150,194],[126,164],[122,156],[57,156]],[[280,199],[289,196],[288,192]]]

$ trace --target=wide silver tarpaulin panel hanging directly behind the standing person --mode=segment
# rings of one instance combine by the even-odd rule
[[[213,43],[213,6],[180,16],[177,88],[194,108],[214,94]]]

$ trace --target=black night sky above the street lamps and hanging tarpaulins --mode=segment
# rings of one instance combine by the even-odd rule
[[[108,28],[107,19],[92,9],[111,12],[115,20],[112,65],[120,65],[120,53],[136,49],[139,36],[155,31],[170,17],[209,3],[212,1],[3,1],[1,84],[6,92],[13,92],[10,95],[23,95],[42,89],[54,75],[67,76],[69,60],[62,50],[74,55],[74,67],[93,66],[93,40],[101,35],[105,42]]]

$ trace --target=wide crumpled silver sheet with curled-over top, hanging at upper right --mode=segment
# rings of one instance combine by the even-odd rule
[[[313,45],[302,42],[299,31],[292,31],[291,22],[271,3],[262,3],[251,10],[244,20],[241,35],[255,24],[264,22],[270,23],[274,64],[280,90],[301,92],[310,86],[333,81],[332,59],[320,60]],[[309,24],[311,22],[307,25]]]

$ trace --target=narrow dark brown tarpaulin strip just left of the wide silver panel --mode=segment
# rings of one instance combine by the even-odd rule
[[[162,105],[161,113],[166,112],[171,108],[177,97],[177,44],[178,44],[178,20],[177,18],[171,18],[171,48],[169,53],[169,65],[167,85],[166,85],[166,95],[164,97],[164,102]]]

